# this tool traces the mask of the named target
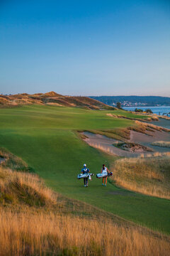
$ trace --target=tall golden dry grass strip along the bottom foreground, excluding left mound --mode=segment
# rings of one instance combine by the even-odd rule
[[[169,240],[106,220],[0,210],[0,255],[168,256]]]

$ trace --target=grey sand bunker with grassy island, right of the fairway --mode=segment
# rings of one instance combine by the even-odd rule
[[[169,132],[156,131],[149,132],[149,135],[147,135],[130,131],[130,140],[127,143],[101,134],[93,134],[91,132],[84,132],[83,134],[85,135],[84,141],[90,146],[117,156],[137,157],[141,153],[148,154],[149,149],[152,152],[169,152],[169,148],[152,145],[156,141],[170,141]]]

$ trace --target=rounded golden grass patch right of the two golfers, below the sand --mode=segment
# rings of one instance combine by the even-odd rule
[[[112,166],[114,180],[124,188],[149,196],[170,199],[170,155],[141,154],[140,158],[119,159]]]

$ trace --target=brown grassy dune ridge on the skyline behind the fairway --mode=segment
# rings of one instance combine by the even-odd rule
[[[56,92],[35,93],[33,95],[28,95],[27,93],[18,95],[0,95],[0,107],[14,107],[31,104],[84,107],[91,110],[114,110],[114,107],[89,97],[64,96],[57,94]]]

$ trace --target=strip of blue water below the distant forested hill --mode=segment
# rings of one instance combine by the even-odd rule
[[[164,113],[169,113],[170,112],[170,106],[168,107],[165,107],[165,106],[162,106],[162,107],[123,107],[123,110],[129,110],[129,111],[134,111],[135,108],[137,109],[140,109],[140,110],[147,110],[147,109],[150,109],[152,110],[152,112],[154,114],[164,114]],[[166,115],[166,114],[165,114]],[[170,114],[169,114],[170,116]]]

